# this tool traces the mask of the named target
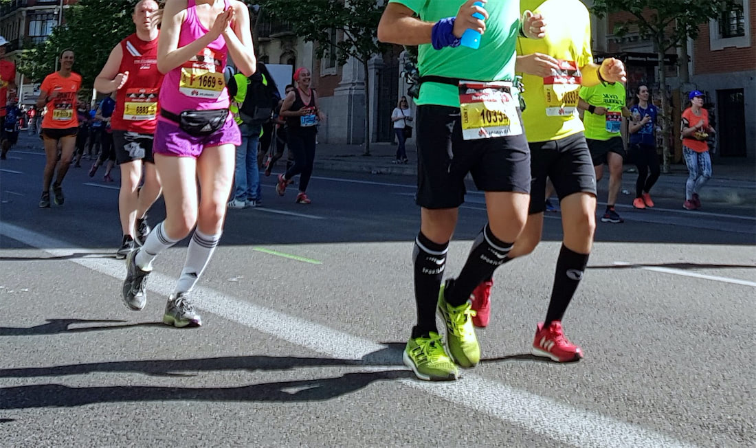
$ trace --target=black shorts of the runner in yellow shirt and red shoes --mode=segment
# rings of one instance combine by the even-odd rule
[[[530,144],[531,184],[529,214],[546,209],[546,178],[551,179],[561,201],[573,193],[596,196],[596,170],[582,132],[553,141]]]

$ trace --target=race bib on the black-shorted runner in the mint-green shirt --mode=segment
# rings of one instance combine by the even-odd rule
[[[460,81],[464,140],[522,134],[511,82]]]

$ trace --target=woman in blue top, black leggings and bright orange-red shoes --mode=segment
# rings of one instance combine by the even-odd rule
[[[638,180],[635,182],[636,209],[653,207],[651,187],[659,178],[659,158],[656,154],[656,117],[658,110],[649,103],[649,88],[640,85],[636,94],[636,104],[631,107],[629,156],[638,168]],[[650,171],[650,175],[649,175]]]

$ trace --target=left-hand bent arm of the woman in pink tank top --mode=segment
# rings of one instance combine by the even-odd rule
[[[181,0],[168,0],[163,12],[163,22],[160,27],[160,38],[157,41],[157,70],[160,73],[168,73],[191,57],[202,51],[210,42],[215,40],[212,33],[207,32],[204,36],[189,45],[178,48],[178,36],[181,33],[181,23],[184,22],[186,9]]]

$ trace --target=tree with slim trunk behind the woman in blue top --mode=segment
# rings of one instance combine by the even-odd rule
[[[623,36],[637,31],[641,39],[650,39],[658,55],[658,82],[662,97],[662,135],[664,166],[669,172],[671,152],[668,138],[671,132],[671,107],[667,103],[665,88],[665,54],[667,51],[687,45],[688,39],[699,36],[699,25],[720,17],[722,11],[739,8],[733,0],[595,0],[593,14],[604,17],[612,12],[632,14],[630,20],[615,23],[613,32]],[[687,63],[687,61],[683,61]]]

